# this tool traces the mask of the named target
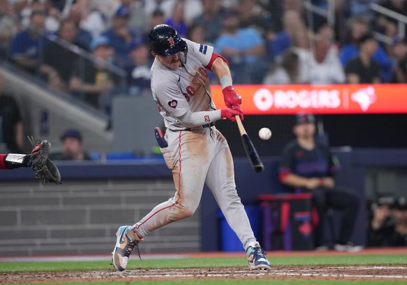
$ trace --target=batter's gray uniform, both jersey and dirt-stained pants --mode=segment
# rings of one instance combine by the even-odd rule
[[[155,60],[151,68],[153,97],[167,127],[168,147],[161,148],[161,153],[172,170],[177,191],[134,224],[133,230],[145,237],[170,222],[191,216],[199,206],[203,185],[207,184],[231,229],[247,249],[256,239],[236,191],[233,160],[226,139],[215,126],[187,128],[176,118],[188,110],[215,110],[205,68],[213,47],[185,41],[188,54],[184,66],[170,69]]]

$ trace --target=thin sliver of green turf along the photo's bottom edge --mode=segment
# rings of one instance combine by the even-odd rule
[[[106,281],[106,282],[87,282],[91,285],[153,285],[157,284],[157,281]],[[200,280],[166,280],[160,281],[159,284],[163,285],[260,285],[260,284],[276,284],[276,285],[347,285],[347,284],[362,284],[362,285],[387,285],[387,284],[404,284],[403,281],[391,281],[391,280],[295,280],[295,279],[273,279],[273,280],[261,280],[261,279],[200,279]],[[25,284],[25,283],[18,283],[18,284]],[[14,285],[18,285],[15,284]],[[41,283],[41,284],[83,284],[80,282],[69,282],[69,283]]]

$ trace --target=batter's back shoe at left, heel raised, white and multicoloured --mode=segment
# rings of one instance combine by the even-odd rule
[[[138,250],[138,243],[142,241],[133,231],[130,225],[123,225],[119,227],[117,233],[116,246],[114,247],[113,265],[117,270],[123,271],[126,269],[127,262],[134,247],[137,250],[138,257],[140,257],[140,251]]]

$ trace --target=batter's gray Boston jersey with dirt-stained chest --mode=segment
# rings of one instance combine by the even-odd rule
[[[191,112],[215,110],[211,98],[211,83],[206,66],[213,47],[183,39],[188,45],[187,61],[183,67],[170,69],[157,60],[151,67],[151,91],[165,127],[170,130],[185,130],[176,117]]]

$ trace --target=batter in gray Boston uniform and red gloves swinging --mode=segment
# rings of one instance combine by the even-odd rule
[[[165,137],[161,138],[159,130],[156,137],[177,191],[139,222],[119,227],[113,265],[125,270],[134,247],[139,254],[138,243],[144,237],[170,222],[190,217],[206,183],[246,249],[249,268],[271,269],[237,194],[226,139],[215,127],[220,119],[236,122],[235,116],[240,116],[243,120],[242,100],[232,87],[228,62],[212,46],[180,38],[168,25],[155,26],[148,43],[155,56],[151,89],[166,127]],[[219,79],[227,108],[216,109],[207,69]]]

